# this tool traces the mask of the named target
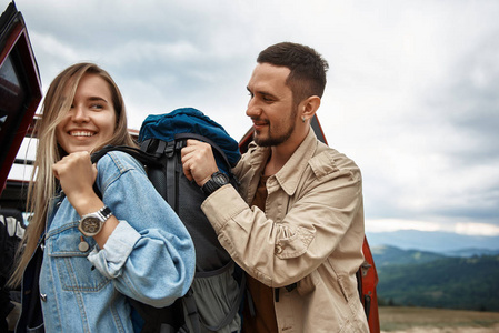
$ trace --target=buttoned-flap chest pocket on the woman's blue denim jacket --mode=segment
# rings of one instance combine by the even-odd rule
[[[79,248],[82,242],[88,246]],[[86,238],[80,233],[78,222],[68,223],[47,235],[46,251],[50,264],[57,269],[63,290],[98,292],[109,283],[109,279],[87,259],[94,246],[93,238]]]

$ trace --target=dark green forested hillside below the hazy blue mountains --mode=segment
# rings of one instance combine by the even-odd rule
[[[499,255],[385,264],[378,275],[380,304],[499,311]]]

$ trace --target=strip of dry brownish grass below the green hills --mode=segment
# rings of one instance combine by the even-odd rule
[[[403,331],[412,327],[499,327],[499,312],[380,306],[379,320],[383,332]]]

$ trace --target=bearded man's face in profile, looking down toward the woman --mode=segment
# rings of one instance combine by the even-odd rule
[[[286,67],[269,63],[259,63],[253,70],[246,114],[253,121],[253,140],[258,145],[279,145],[295,132],[298,110],[286,84],[289,73]]]

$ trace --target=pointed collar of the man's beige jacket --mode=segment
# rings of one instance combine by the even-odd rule
[[[255,142],[252,143],[255,144]],[[292,195],[298,186],[301,174],[317,149],[317,137],[312,128],[303,139],[301,144],[286,162],[286,164],[275,174],[279,185],[288,195]],[[256,147],[251,154],[251,165],[257,172],[261,172],[270,154],[270,148]]]

